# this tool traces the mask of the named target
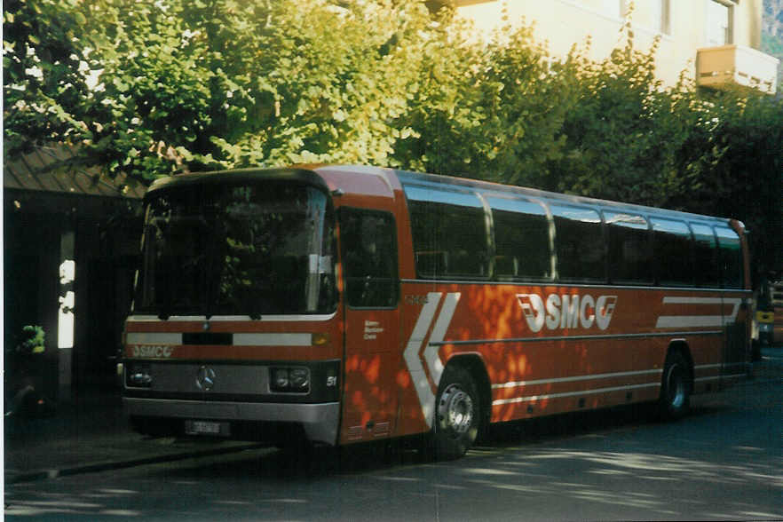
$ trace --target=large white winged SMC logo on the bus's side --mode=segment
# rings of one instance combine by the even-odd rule
[[[593,325],[605,330],[612,320],[617,296],[517,294],[517,301],[533,332],[541,331],[544,325],[550,330]]]

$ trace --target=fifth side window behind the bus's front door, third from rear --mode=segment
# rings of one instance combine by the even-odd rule
[[[661,286],[693,284],[691,230],[682,221],[651,218],[655,273]]]

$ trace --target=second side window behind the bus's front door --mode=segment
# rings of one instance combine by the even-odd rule
[[[494,223],[494,273],[500,279],[550,279],[550,224],[539,203],[487,198]]]

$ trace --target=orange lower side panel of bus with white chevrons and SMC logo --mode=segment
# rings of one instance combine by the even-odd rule
[[[720,379],[723,324],[714,291],[407,282],[400,432],[429,429],[443,368],[467,352],[486,364],[495,422],[657,399],[675,343],[705,391]]]

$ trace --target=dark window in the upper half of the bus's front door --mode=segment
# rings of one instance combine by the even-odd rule
[[[343,208],[340,236],[349,306],[397,305],[397,234],[388,212]]]

